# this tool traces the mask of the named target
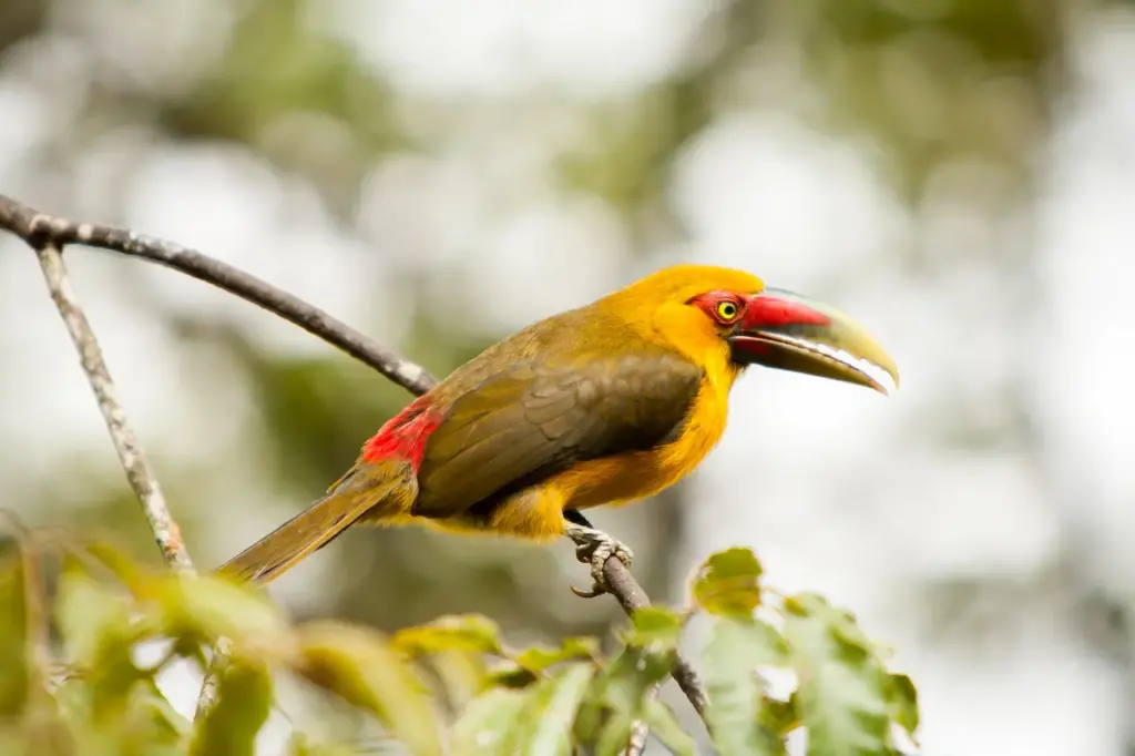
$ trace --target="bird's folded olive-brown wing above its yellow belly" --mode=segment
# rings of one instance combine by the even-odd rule
[[[455,516],[577,462],[672,439],[701,377],[662,351],[513,366],[463,394],[430,435],[413,513]]]

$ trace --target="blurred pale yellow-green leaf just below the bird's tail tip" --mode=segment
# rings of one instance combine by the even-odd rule
[[[279,608],[246,585],[213,576],[167,576],[154,581],[153,598],[170,636],[229,638],[241,646],[283,652],[288,628]]]

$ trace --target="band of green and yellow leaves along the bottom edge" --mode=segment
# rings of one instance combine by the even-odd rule
[[[102,544],[20,531],[0,564],[0,751],[253,754],[287,678],[334,697],[411,754],[621,754],[637,722],[674,754],[695,736],[661,703],[691,618],[711,621],[701,665],[718,753],[897,754],[918,726],[914,686],[849,613],[816,595],[777,598],[747,549],[713,555],[689,608],[637,612],[612,656],[591,638],[514,648],[481,615],[451,615],[385,635],[338,621],[292,623],[262,591],[220,578],[149,570]],[[758,616],[767,613],[767,619]],[[191,721],[162,672],[204,669],[218,639],[213,704]],[[152,664],[140,649],[167,650]],[[771,670],[793,672],[773,696]],[[358,742],[294,733],[289,753],[360,753]]]

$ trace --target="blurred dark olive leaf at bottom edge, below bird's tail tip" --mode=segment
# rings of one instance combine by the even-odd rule
[[[228,660],[220,666],[217,700],[194,724],[191,756],[253,756],[257,733],[272,706],[272,679],[263,664]]]

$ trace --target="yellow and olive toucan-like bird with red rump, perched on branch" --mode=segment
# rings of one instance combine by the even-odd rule
[[[750,366],[875,389],[893,360],[835,308],[743,270],[676,264],[499,341],[411,401],[308,509],[217,572],[268,583],[352,526],[423,524],[538,544],[590,563],[632,552],[583,514],[692,472]]]

